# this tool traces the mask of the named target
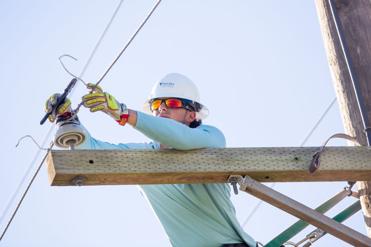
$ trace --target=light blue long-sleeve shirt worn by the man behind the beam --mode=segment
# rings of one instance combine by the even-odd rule
[[[224,148],[223,133],[213,126],[190,128],[171,119],[137,112],[135,129],[152,139],[149,143],[110,144],[88,134],[78,149],[160,148],[160,143],[178,150]],[[76,148],[76,149],[77,149]],[[236,218],[230,201],[230,185],[155,184],[138,185],[173,247],[220,247],[228,243],[256,243]]]

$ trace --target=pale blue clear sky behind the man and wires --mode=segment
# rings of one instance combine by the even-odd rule
[[[0,210],[3,209],[37,146],[50,127],[40,126],[44,104],[79,74],[118,0],[0,2],[2,87]],[[83,80],[95,83],[154,5],[125,0],[98,47]],[[162,0],[100,86],[131,109],[140,110],[150,90],[167,73],[185,74],[196,83],[209,108],[204,121],[223,131],[227,147],[299,146],[334,98],[313,1]],[[78,82],[73,107],[87,90]],[[79,117],[93,137],[111,143],[149,141],[130,126],[103,113],[81,109]],[[335,103],[305,146],[319,146],[344,133]],[[52,136],[47,138],[47,143]],[[47,144],[44,145],[46,147]],[[334,140],[329,146],[347,146]],[[44,155],[41,151],[10,206],[0,230]],[[309,174],[308,174],[309,176]],[[269,184],[267,184],[269,185]],[[315,208],[347,182],[278,183],[275,189]],[[232,196],[240,223],[258,201]],[[355,201],[345,198],[329,211],[333,217]],[[244,227],[266,244],[297,219],[262,203]],[[362,213],[345,224],[366,234]],[[316,227],[292,239],[297,242]],[[139,244],[138,244],[139,243]],[[45,165],[0,246],[170,246],[136,186],[50,187]],[[327,234],[313,246],[349,244]]]

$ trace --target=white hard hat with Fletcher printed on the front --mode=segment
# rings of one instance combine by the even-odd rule
[[[174,97],[193,101],[200,105],[200,110],[196,111],[197,118],[203,120],[209,115],[209,110],[200,103],[200,94],[196,85],[182,74],[170,73],[158,80],[152,87],[149,100],[143,102],[142,110],[152,115],[150,102],[155,98],[161,97]]]

